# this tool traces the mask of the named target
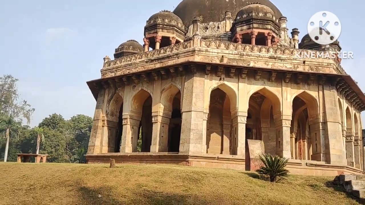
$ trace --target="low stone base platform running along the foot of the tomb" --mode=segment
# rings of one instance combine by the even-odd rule
[[[216,169],[234,169],[245,171],[245,158],[235,155],[185,155],[178,153],[107,153],[87,154],[88,164],[170,164],[182,166],[207,167]],[[287,169],[291,174],[337,176],[339,174],[362,174],[362,170],[349,166],[330,165],[325,162],[309,160],[289,160]]]

